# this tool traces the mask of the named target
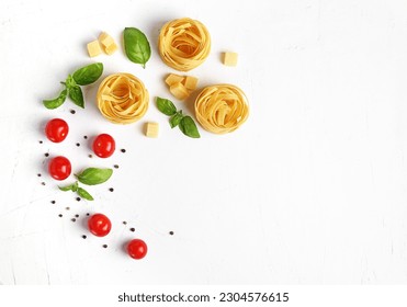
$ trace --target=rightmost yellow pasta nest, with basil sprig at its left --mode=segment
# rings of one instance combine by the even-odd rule
[[[202,90],[195,100],[197,122],[214,134],[240,127],[249,116],[246,94],[233,84],[216,84]]]

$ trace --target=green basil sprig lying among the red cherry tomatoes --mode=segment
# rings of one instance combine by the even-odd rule
[[[76,174],[80,183],[87,185],[97,185],[106,182],[112,177],[112,169],[98,169],[98,168],[87,168],[79,174]],[[66,186],[58,186],[60,191],[72,191],[87,201],[93,201],[93,196],[83,187],[79,186],[78,181]]]

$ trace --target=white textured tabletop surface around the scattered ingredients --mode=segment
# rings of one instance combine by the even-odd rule
[[[162,79],[174,72],[158,56],[158,33],[182,16],[202,21],[213,41],[189,73],[200,87],[235,83],[249,98],[250,117],[233,134],[201,128],[201,139],[186,138],[155,106],[154,96],[171,98]],[[101,31],[121,42],[126,26],[151,43],[146,69],[122,48],[87,56]],[[236,68],[222,65],[225,50],[239,54]],[[103,77],[127,71],[145,82],[151,101],[140,122],[117,126],[100,115],[101,80],[86,89],[86,110],[42,105],[93,61],[104,64]],[[2,0],[0,282],[405,284],[406,71],[403,0]],[[192,114],[193,96],[176,104]],[[70,125],[63,144],[44,136],[53,117]],[[144,136],[147,121],[160,123],[159,138]],[[88,158],[99,133],[126,154]],[[94,202],[76,202],[46,174],[45,152],[67,156],[75,172],[120,169],[89,189]],[[105,238],[86,229],[86,213],[95,212],[113,223]],[[124,252],[132,238],[148,243],[142,261]]]

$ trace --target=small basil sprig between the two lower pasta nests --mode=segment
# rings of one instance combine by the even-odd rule
[[[179,126],[180,130],[189,137],[200,138],[200,132],[197,130],[195,122],[189,115],[183,115],[182,110],[177,111],[176,105],[172,101],[163,98],[157,98],[158,110],[170,117],[170,126],[174,128]]]

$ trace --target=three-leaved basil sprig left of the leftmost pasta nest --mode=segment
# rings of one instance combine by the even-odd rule
[[[95,82],[103,72],[103,64],[94,62],[82,68],[79,68],[74,75],[68,75],[64,84],[65,89],[60,92],[59,96],[52,100],[43,100],[46,109],[57,109],[64,104],[67,95],[78,106],[84,107],[84,100],[82,89],[79,86],[88,86]]]

